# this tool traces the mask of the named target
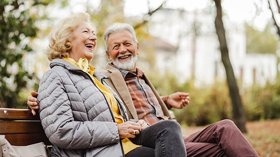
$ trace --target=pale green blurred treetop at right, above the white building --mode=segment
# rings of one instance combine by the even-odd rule
[[[266,25],[263,31],[245,24],[246,52],[276,54],[278,40],[271,33],[271,25]]]

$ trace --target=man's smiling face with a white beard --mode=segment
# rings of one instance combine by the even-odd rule
[[[108,37],[107,56],[119,69],[136,71],[136,60],[138,55],[138,43],[128,30],[120,30],[110,34]]]

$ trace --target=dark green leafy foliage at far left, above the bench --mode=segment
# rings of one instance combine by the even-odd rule
[[[19,92],[26,87],[27,81],[36,79],[35,74],[24,69],[22,57],[32,52],[30,42],[38,31],[34,24],[38,18],[37,12],[32,8],[49,2],[0,2],[0,107],[16,107]]]

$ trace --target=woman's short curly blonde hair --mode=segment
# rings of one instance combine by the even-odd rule
[[[72,47],[69,40],[73,37],[73,30],[81,21],[86,21],[93,25],[91,16],[88,13],[81,12],[60,20],[58,24],[52,28],[48,36],[49,45],[46,50],[50,61],[55,58],[69,57],[69,52]]]

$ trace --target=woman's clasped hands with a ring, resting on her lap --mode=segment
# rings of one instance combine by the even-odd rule
[[[126,121],[118,124],[120,138],[135,138],[142,131],[141,124],[138,122]]]

